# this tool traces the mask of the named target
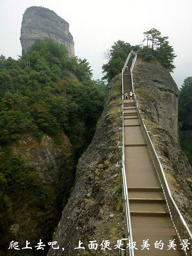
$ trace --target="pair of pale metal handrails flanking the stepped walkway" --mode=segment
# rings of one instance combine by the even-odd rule
[[[125,65],[122,69],[122,90],[123,90],[123,73],[125,71],[125,68],[127,66],[127,63],[129,61],[130,57],[131,57],[131,53],[129,53],[129,55],[126,59]],[[136,60],[137,60],[137,53],[135,53],[134,60],[133,60],[133,63],[131,65],[131,68],[130,68],[130,70],[131,70],[131,81],[132,81],[132,91],[133,92],[134,92],[134,86],[133,86],[133,80],[132,80],[132,71],[133,71]],[[122,93],[122,95],[123,95],[123,93]],[[123,97],[122,97],[122,100],[123,100]],[[143,119],[141,117],[135,94],[134,94],[134,100],[135,100],[135,106],[136,106],[136,109],[137,109],[140,124],[141,124],[142,130],[143,130],[143,134],[145,135],[147,145],[148,145],[151,157],[153,158],[153,162],[154,162],[154,165],[155,165],[155,168],[156,168],[156,172],[157,172],[158,177],[159,177],[159,181],[161,182],[161,186],[162,186],[163,193],[164,193],[164,196],[165,196],[167,208],[168,208],[169,213],[170,213],[170,218],[171,218],[171,221],[172,221],[172,225],[173,225],[174,230],[175,230],[175,234],[177,234],[180,243],[183,243],[183,240],[187,239],[187,243],[189,243],[188,250],[186,250],[186,251],[183,250],[183,253],[185,253],[186,256],[190,256],[190,255],[192,255],[192,244],[191,244],[192,243],[192,234],[191,234],[185,220],[183,219],[183,217],[182,217],[182,215],[181,215],[181,213],[180,213],[180,211],[179,211],[177,205],[175,204],[174,199],[171,195],[171,192],[170,192],[170,189],[169,189],[169,186],[168,186],[168,183],[166,181],[166,177],[165,177],[165,174],[164,174],[164,171],[163,171],[162,164],[159,161],[159,157],[156,154],[155,148],[154,148],[153,143],[152,143],[152,141],[149,137],[149,133],[146,129],[145,123],[143,122]],[[123,115],[124,115],[124,113],[123,113]],[[123,129],[122,129],[122,132],[123,132],[123,137],[122,137],[123,138],[122,139],[123,140],[122,176],[123,176],[123,195],[124,195],[126,231],[127,231],[126,236],[129,239],[129,242],[133,242],[132,229],[131,229],[131,217],[130,217],[130,209],[129,209],[129,199],[128,199],[128,191],[127,191],[127,185],[126,185],[125,163],[124,163],[124,160],[125,160],[125,155],[124,155],[124,118],[122,118],[122,120],[123,120]],[[134,256],[134,251],[129,250],[129,255]]]

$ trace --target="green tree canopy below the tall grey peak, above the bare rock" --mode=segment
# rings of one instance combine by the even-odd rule
[[[70,74],[78,79],[70,79]],[[96,85],[91,77],[86,59],[68,58],[65,47],[48,38],[37,40],[17,61],[2,55],[1,145],[26,131],[37,138],[63,131],[72,143],[77,137],[84,141],[88,134],[89,143],[104,99],[104,84]]]

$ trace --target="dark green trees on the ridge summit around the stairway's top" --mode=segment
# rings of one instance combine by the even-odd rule
[[[155,28],[143,34],[143,42],[147,42],[146,46],[131,46],[131,44],[119,40],[111,46],[110,50],[103,54],[108,60],[108,62],[102,66],[103,74],[105,74],[103,79],[110,81],[115,75],[121,73],[122,67],[131,50],[137,51],[138,57],[144,61],[158,63],[167,70],[173,71],[175,68],[173,60],[176,55],[174,54],[173,47],[170,46],[167,41],[169,37],[162,37],[161,32]]]

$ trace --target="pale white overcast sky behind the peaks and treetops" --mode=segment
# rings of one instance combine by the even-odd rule
[[[0,54],[6,58],[21,55],[22,14],[30,6],[49,8],[69,23],[75,55],[90,62],[93,79],[103,76],[103,52],[119,39],[140,44],[151,28],[169,36],[178,87],[192,76],[192,0],[0,0]]]

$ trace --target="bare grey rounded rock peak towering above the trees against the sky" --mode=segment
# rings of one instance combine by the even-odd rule
[[[73,36],[69,32],[69,24],[55,12],[44,7],[31,6],[23,14],[20,42],[23,51],[37,39],[52,38],[55,42],[64,45],[69,57],[74,57]]]

